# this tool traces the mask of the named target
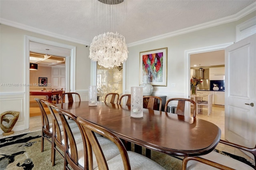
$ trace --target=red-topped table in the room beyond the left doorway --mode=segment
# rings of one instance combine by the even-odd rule
[[[56,103],[58,104],[59,95],[62,94],[62,90],[30,90],[29,95],[32,96],[48,96],[48,102],[52,103],[52,96],[56,95]]]

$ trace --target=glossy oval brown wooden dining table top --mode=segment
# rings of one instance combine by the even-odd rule
[[[118,137],[151,150],[174,156],[211,152],[221,136],[219,127],[193,117],[144,109],[142,118],[130,117],[130,107],[88,101],[57,104],[70,113],[114,132]]]

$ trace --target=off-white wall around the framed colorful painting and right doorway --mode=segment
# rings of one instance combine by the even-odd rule
[[[190,68],[187,68],[188,73],[186,73],[185,51],[235,42],[236,25],[252,18],[253,16],[256,16],[256,12],[253,12],[236,22],[222,24],[220,26],[198,30],[156,42],[128,47],[129,53],[128,59],[126,60],[126,93],[130,92],[130,87],[139,85],[140,51],[168,47],[167,86],[154,86],[153,94],[166,95],[167,99],[172,97],[186,98],[185,82],[186,75],[189,73]],[[132,67],[129,67],[131,65]],[[175,83],[176,87],[171,87],[172,83]]]

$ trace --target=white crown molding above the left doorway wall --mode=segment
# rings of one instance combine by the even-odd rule
[[[52,32],[48,32],[48,31],[45,31],[45,30],[42,30],[42,29],[34,28],[34,27],[31,27],[31,26],[27,26],[25,24],[20,24],[18,22],[13,22],[13,21],[6,20],[6,19],[3,19],[3,18],[0,18],[0,24],[4,24],[4,25],[7,25],[7,26],[12,26],[12,27],[15,27],[15,28],[20,28],[22,30],[35,32],[35,33],[38,33],[38,34],[42,34],[42,35],[45,35],[45,36],[50,36],[50,37],[53,37],[53,38],[58,38],[58,39],[61,39],[61,40],[66,40],[66,41],[69,41],[69,42],[74,42],[74,43],[79,43],[79,44],[84,44],[84,45],[90,45],[89,42],[85,42],[85,41],[78,40],[78,39],[75,39],[75,38],[71,38],[71,37],[68,37],[68,36],[63,36],[63,35],[60,35],[60,34],[55,34],[55,33],[52,33]]]

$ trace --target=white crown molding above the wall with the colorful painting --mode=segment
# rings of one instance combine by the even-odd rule
[[[129,44],[127,44],[127,46],[132,47],[132,46],[136,46],[136,45],[140,45],[140,44],[144,44],[144,43],[149,43],[149,42],[162,40],[162,39],[165,39],[165,38],[179,36],[179,35],[182,35],[182,34],[202,30],[202,29],[205,29],[205,28],[210,28],[210,27],[213,27],[213,26],[218,26],[218,25],[221,25],[221,24],[226,24],[226,23],[229,23],[229,22],[234,22],[234,21],[237,21],[237,20],[243,18],[244,16],[254,12],[255,10],[256,10],[256,2],[252,3],[251,5],[247,6],[246,8],[244,8],[243,10],[239,11],[238,13],[236,13],[234,15],[227,16],[227,17],[224,17],[224,18],[220,18],[218,20],[213,20],[213,21],[210,21],[210,22],[205,22],[203,24],[199,24],[199,25],[196,25],[196,26],[191,26],[191,27],[188,27],[188,28],[184,28],[184,29],[181,29],[181,30],[174,31],[174,32],[169,32],[169,33],[162,34],[162,35],[159,35],[159,36],[147,38],[147,39],[140,40],[140,41],[137,41],[137,42],[129,43]]]

